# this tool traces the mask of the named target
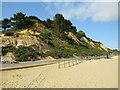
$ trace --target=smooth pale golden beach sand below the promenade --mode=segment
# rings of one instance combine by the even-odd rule
[[[118,56],[58,68],[58,64],[2,72],[3,88],[118,88]]]

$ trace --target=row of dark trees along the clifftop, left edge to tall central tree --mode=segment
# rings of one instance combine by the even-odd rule
[[[51,28],[56,34],[64,32],[76,33],[77,31],[71,21],[65,19],[62,14],[56,14],[53,20],[47,19],[42,21],[36,16],[26,16],[26,14],[22,12],[14,14],[10,19],[4,18],[2,20],[2,28],[4,30],[8,28],[16,30],[31,28],[36,22],[44,24],[46,28]]]

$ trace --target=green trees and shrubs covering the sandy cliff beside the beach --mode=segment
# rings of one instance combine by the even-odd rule
[[[62,14],[56,14],[53,18],[40,20],[36,16],[26,16],[23,13],[16,13],[10,19],[2,20],[2,33],[4,36],[19,37],[18,32],[27,29],[34,33],[29,36],[35,36],[39,40],[53,47],[54,50],[41,52],[32,46],[4,46],[3,55],[7,52],[13,52],[18,61],[26,61],[28,56],[37,59],[38,56],[56,56],[60,58],[72,57],[77,55],[107,55],[117,53],[115,50],[105,48],[102,43],[88,38],[84,31],[78,31],[72,25],[70,20],[65,19]],[[36,34],[37,33],[37,34]],[[28,34],[28,33],[27,33]],[[101,46],[102,45],[102,46]]]

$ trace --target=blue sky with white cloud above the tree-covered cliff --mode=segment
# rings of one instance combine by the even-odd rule
[[[14,13],[35,15],[41,20],[53,19],[61,13],[71,20],[77,30],[83,30],[93,40],[102,42],[111,49],[118,48],[117,3],[96,2],[3,2],[2,18]]]

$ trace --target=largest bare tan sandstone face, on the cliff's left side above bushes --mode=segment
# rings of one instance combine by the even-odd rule
[[[28,36],[28,35],[23,35],[19,37],[8,37],[8,36],[3,36],[2,37],[2,46],[7,46],[11,45],[16,48],[19,46],[31,46],[33,49],[46,52],[49,50],[53,50],[53,48],[44,43],[42,40],[35,36]]]

